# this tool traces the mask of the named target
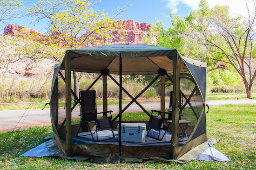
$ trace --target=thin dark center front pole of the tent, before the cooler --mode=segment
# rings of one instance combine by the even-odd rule
[[[122,122],[122,53],[119,57],[119,156],[121,157],[121,122]]]

